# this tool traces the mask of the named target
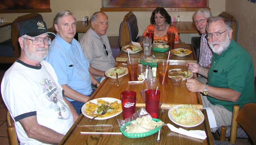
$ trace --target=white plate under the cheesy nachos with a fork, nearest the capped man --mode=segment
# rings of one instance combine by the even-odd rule
[[[116,98],[98,98],[98,99],[102,99],[102,100],[108,101],[108,102],[117,101],[118,104],[121,103],[121,100],[116,99]],[[93,99],[93,100],[91,100],[90,102],[92,102],[92,103],[94,103],[94,104],[97,104],[97,99]],[[89,104],[89,102],[86,102],[85,104]],[[93,118],[92,116],[87,115],[87,113],[85,112],[85,109],[86,109],[85,104],[82,106],[82,110],[81,110],[82,113],[84,114],[84,116],[86,116],[86,117],[88,117],[88,118]],[[120,112],[118,112],[118,113],[116,113],[116,114],[114,114],[114,115],[108,116],[108,117],[102,117],[102,118],[96,117],[95,120],[105,120],[105,119],[109,119],[109,118],[112,118],[112,117],[114,117],[114,116],[116,116],[116,115],[122,113],[122,112],[123,112],[123,110],[121,110]]]

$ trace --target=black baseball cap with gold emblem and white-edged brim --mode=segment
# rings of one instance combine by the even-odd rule
[[[44,21],[29,20],[21,25],[20,37],[27,34],[29,37],[38,37],[44,34],[49,34],[56,37],[54,33],[48,31]]]

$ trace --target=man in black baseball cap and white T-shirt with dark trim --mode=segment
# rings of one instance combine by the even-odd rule
[[[63,96],[54,69],[44,61],[49,35],[56,36],[44,21],[25,22],[20,29],[20,57],[2,80],[3,100],[21,144],[57,144],[78,117]]]

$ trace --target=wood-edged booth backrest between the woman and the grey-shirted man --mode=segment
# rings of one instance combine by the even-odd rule
[[[127,42],[136,41],[139,28],[136,16],[130,11],[124,16],[124,20],[119,28],[119,44],[121,47],[127,45]]]

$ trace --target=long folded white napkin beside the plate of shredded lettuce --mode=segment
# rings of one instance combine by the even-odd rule
[[[167,126],[171,129],[171,131],[179,133],[179,134],[183,134],[183,135],[187,135],[190,137],[195,137],[201,140],[204,140],[207,136],[205,134],[205,131],[203,130],[185,130],[183,128],[176,128],[171,124],[167,124]]]

